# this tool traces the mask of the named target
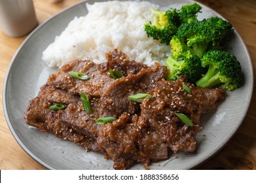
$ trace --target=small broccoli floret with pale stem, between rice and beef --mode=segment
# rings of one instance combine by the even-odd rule
[[[187,75],[189,82],[194,83],[205,73],[205,68],[202,67],[200,58],[190,51],[183,52],[179,59],[169,56],[166,59],[166,66],[170,71],[168,80],[177,80],[179,76]]]

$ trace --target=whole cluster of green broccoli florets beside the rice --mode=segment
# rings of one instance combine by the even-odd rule
[[[203,88],[240,88],[240,62],[225,50],[234,27],[218,17],[198,20],[201,8],[194,3],[183,5],[180,10],[153,9],[153,22],[144,25],[149,37],[170,44],[172,55],[166,59],[168,80],[187,75],[189,82]]]

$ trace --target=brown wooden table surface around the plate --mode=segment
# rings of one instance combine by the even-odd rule
[[[34,0],[39,24],[80,0],[62,3]],[[255,0],[198,0],[223,15],[238,30],[249,50],[256,73],[256,1]],[[45,169],[33,160],[16,142],[3,114],[2,88],[10,59],[26,37],[12,38],[0,31],[0,169]],[[256,79],[254,79],[256,81]],[[231,141],[198,169],[256,169],[256,91],[246,118]]]

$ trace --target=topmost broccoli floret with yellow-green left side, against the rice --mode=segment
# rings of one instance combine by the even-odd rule
[[[152,9],[154,19],[152,22],[144,25],[148,37],[159,40],[166,45],[170,44],[170,40],[177,32],[179,26],[183,23],[197,21],[197,13],[202,7],[194,3],[192,5],[184,5],[180,10],[171,8],[167,11]]]

